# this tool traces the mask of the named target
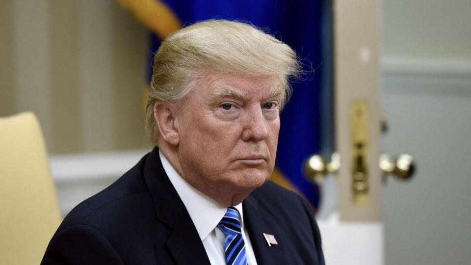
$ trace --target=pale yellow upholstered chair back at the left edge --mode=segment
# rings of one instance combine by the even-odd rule
[[[0,264],[39,264],[61,219],[36,116],[0,118]]]

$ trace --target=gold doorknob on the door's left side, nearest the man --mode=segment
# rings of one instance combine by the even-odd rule
[[[324,181],[327,173],[335,173],[339,168],[339,153],[333,153],[330,161],[327,161],[320,155],[313,155],[304,163],[306,175],[318,184]]]

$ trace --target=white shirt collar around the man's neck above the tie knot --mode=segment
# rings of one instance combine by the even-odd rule
[[[203,241],[219,224],[219,221],[221,221],[224,214],[226,214],[227,208],[221,206],[192,185],[189,185],[175,170],[172,164],[170,164],[167,158],[165,158],[162,152],[160,152],[160,150],[158,151],[158,155],[165,173],[167,173],[170,182],[175,187],[175,190],[177,190],[186,211],[188,211],[191,220],[196,227],[198,235]],[[242,203],[235,205],[234,208],[237,209],[240,214],[240,225],[243,228],[244,217]]]

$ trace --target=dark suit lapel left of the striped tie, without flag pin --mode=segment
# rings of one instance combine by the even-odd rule
[[[176,263],[209,264],[193,221],[162,167],[157,148],[154,148],[146,160],[144,178],[154,200],[157,218],[173,229],[167,247]]]

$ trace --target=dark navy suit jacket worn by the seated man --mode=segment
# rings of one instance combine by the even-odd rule
[[[297,194],[268,182],[243,201],[243,211],[259,265],[324,264],[313,212]],[[268,246],[263,233],[278,245]],[[155,148],[65,217],[41,264],[209,265],[209,259]]]

